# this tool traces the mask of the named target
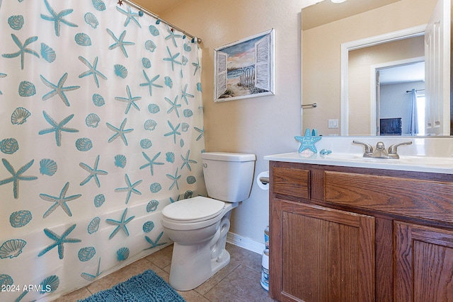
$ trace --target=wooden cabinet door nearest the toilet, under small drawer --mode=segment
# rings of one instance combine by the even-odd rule
[[[294,202],[280,209],[282,301],[374,301],[374,217]]]

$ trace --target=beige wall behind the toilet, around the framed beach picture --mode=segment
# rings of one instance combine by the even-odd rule
[[[207,151],[255,153],[256,175],[268,170],[263,156],[297,151],[300,135],[299,0],[188,0],[161,17],[202,39],[202,91]],[[275,95],[213,102],[214,48],[275,28]],[[230,231],[263,243],[268,191],[253,181],[251,197],[234,209]]]

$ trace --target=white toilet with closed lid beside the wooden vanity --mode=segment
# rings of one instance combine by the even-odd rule
[[[255,154],[202,153],[208,197],[183,199],[162,210],[162,226],[173,240],[170,285],[195,289],[229,263],[225,250],[231,209],[250,196]]]

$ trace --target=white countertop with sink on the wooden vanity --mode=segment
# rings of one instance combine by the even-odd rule
[[[399,159],[389,159],[365,158],[362,153],[311,154],[307,156],[304,153],[293,152],[265,156],[265,159],[319,165],[343,165],[358,168],[453,174],[453,157],[400,156]]]

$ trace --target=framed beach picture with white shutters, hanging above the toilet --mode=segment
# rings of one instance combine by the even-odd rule
[[[274,31],[214,49],[214,102],[275,94]]]

